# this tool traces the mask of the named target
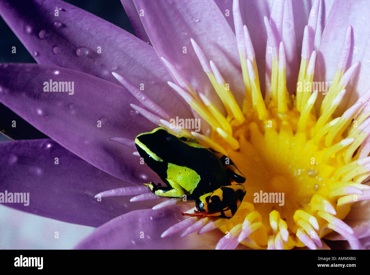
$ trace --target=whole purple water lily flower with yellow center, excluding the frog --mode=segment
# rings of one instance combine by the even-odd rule
[[[98,227],[76,248],[369,247],[366,1],[122,4],[137,37],[62,1],[1,1],[38,64],[2,64],[0,101],[50,137],[0,145],[1,190],[30,194],[7,206]],[[156,125],[233,160],[232,218],[142,186],[161,180],[134,139]]]

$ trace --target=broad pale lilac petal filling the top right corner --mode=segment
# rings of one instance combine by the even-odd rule
[[[353,34],[346,68],[348,69],[356,61],[361,62],[360,70],[357,70],[346,87],[347,96],[343,98],[336,114],[342,114],[369,88],[370,23],[367,20],[369,17],[368,1],[357,1],[356,5],[353,5],[348,1],[339,0],[333,3],[327,18],[319,48],[320,53],[317,56],[315,79],[318,81],[333,80],[349,25],[352,26]]]

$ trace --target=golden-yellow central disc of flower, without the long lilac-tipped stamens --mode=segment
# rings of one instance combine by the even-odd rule
[[[310,114],[305,127],[298,131],[301,115],[296,109],[296,97],[287,105],[287,111],[279,113],[271,101],[265,120],[259,120],[256,110],[249,110],[241,125],[231,121],[233,133],[236,133],[233,138],[239,143],[238,150],[233,150],[215,131],[212,133],[212,140],[225,148],[226,154],[246,176],[244,185],[247,192],[243,203],[222,229],[224,232],[232,231],[244,222],[248,214],[256,211],[249,222],[262,223],[249,235],[253,242],[244,242],[251,248],[266,248],[269,237],[271,242],[275,242],[275,238],[282,239],[282,228],[289,232],[289,241],[283,242],[285,248],[303,247],[305,245],[295,235],[301,232],[312,234],[312,217],[317,220],[319,228],[323,228],[328,223],[325,217],[330,219],[330,214],[335,214],[335,217],[343,219],[350,210],[347,204],[337,205],[337,200],[340,195],[346,195],[344,188],[356,184],[353,175],[343,180],[346,174],[337,175],[335,172],[346,166],[346,154],[352,157],[354,151],[349,148],[349,142],[353,139],[343,142],[343,136],[339,135],[332,146],[326,146],[325,139],[320,136],[329,130],[325,125],[330,125],[332,119],[314,131],[317,119]],[[335,124],[331,129],[335,129]],[[356,135],[358,137],[358,133],[350,136]],[[359,165],[353,164],[352,170],[355,167]],[[301,214],[306,218],[299,217],[299,212],[295,215],[298,210],[303,211]]]

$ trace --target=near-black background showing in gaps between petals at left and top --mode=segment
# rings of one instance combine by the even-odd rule
[[[134,30],[128,20],[120,0],[66,0],[96,16],[107,20],[129,33]],[[31,54],[28,53],[16,35],[0,17],[0,63],[36,63]],[[11,53],[11,47],[17,48],[17,53]],[[17,127],[11,127],[11,121],[17,122]],[[14,140],[47,138],[46,135],[36,130],[21,117],[13,113],[9,108],[0,103],[0,131]],[[9,140],[0,134],[0,142]]]

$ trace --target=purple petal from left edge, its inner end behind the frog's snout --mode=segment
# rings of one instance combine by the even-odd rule
[[[73,81],[74,94],[44,92],[43,83],[50,79]],[[92,165],[137,184],[158,179],[146,165],[139,164],[139,158],[132,155],[134,149],[109,140],[134,140],[155,127],[130,111],[129,104],[135,98],[121,86],[61,67],[4,64],[0,67],[0,87],[4,105]]]

